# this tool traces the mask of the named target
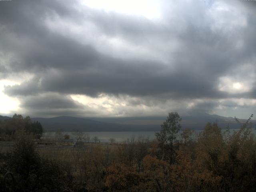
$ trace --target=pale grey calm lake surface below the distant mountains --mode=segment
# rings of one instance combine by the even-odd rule
[[[230,133],[232,134],[234,131],[238,131],[239,129],[230,129]],[[224,133],[226,130],[222,130]],[[198,134],[202,132],[202,130],[195,130],[193,134],[193,138],[197,138]],[[126,140],[130,140],[134,138],[135,140],[138,140],[138,138],[148,138],[149,140],[155,139],[155,132],[154,131],[147,131],[147,132],[83,132],[83,134],[89,134],[90,135],[90,142],[94,142],[93,138],[96,136],[100,140],[100,142],[110,142],[110,138],[114,138],[116,142],[124,142]],[[256,135],[256,130],[252,129],[252,133]],[[70,136],[70,139],[74,139],[76,137],[75,132],[62,132],[61,135],[64,136],[65,134],[68,134]],[[60,136],[60,133],[55,132],[45,132],[42,136],[42,138],[56,138],[57,136]]]

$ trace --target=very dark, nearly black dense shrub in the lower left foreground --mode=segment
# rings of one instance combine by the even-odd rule
[[[40,157],[33,137],[16,133],[16,144],[6,157],[6,169],[14,174],[16,189],[24,192],[72,191],[70,167]]]

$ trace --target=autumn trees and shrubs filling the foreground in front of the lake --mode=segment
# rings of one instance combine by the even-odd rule
[[[141,137],[80,147],[40,147],[37,132],[17,124],[12,150],[0,154],[0,184],[5,186],[0,191],[253,192],[256,140],[251,118],[232,134],[222,133],[216,122],[208,123],[193,140],[192,131],[182,129],[180,116],[172,112],[155,141]],[[15,184],[10,176],[4,178],[6,172],[11,172]]]

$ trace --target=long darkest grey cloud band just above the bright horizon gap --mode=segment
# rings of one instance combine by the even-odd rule
[[[107,94],[129,94],[132,96],[162,96],[163,98],[220,98],[228,95],[216,91],[214,83],[202,81],[205,76],[194,77],[186,72],[168,73],[159,76],[148,71],[147,66],[119,68],[115,71],[63,71],[48,72],[40,79],[33,78],[21,85],[6,86],[10,96],[30,95],[47,91],[64,94],[87,94],[98,96]],[[157,69],[156,69],[157,70]],[[180,80],[179,78],[182,77]],[[178,81],[177,81],[178,80]],[[209,88],[209,85],[211,85]]]

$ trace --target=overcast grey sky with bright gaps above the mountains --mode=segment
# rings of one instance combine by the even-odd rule
[[[256,1],[0,1],[0,115],[248,118]]]

